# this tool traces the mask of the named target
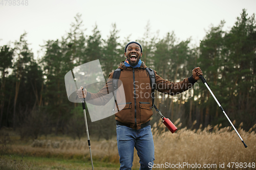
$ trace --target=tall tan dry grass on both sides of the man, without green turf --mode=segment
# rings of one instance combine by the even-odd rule
[[[178,125],[178,123],[177,121],[175,124]],[[178,125],[178,127],[180,126],[181,124]],[[164,125],[159,121],[158,124],[152,126],[155,144],[154,163],[157,165],[165,163],[182,164],[185,162],[194,165],[196,163],[217,165],[217,168],[207,169],[222,169],[219,168],[220,164],[225,163],[226,166],[229,162],[256,163],[255,127],[256,125],[245,132],[242,129],[242,124],[239,126],[238,131],[248,145],[248,148],[244,148],[232,127],[221,128],[221,125],[217,125],[198,130],[182,128],[172,134],[166,131]],[[119,163],[116,139],[91,141],[91,147],[94,160]],[[83,140],[68,140],[65,138],[61,140],[35,140],[27,145],[12,144],[7,153],[90,161],[88,143],[85,138]],[[136,150],[133,164],[133,168],[139,168],[139,158]]]

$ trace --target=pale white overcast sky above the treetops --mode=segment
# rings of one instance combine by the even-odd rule
[[[102,38],[106,38],[112,23],[116,23],[120,40],[129,35],[130,40],[136,40],[143,37],[150,21],[153,34],[159,30],[162,38],[174,31],[180,40],[191,37],[195,44],[199,44],[211,24],[218,26],[225,20],[226,31],[240,17],[242,9],[245,8],[249,16],[256,13],[255,0],[24,0],[24,5],[19,6],[17,0],[15,6],[11,4],[13,0],[0,2],[0,46],[18,40],[26,31],[35,57],[44,41],[60,39],[69,31],[77,13],[82,15],[83,28],[87,29],[85,35],[92,35],[96,23]]]

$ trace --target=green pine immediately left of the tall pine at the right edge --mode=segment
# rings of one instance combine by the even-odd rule
[[[217,27],[212,26],[210,30],[207,32],[205,38],[200,43],[200,56],[199,63],[202,65],[202,69],[204,71],[204,75],[206,80],[210,81],[212,86],[211,89],[215,91],[215,94],[219,96],[221,91],[219,86],[221,85],[220,78],[220,69],[221,69],[221,52],[223,49],[223,36],[224,31],[222,31],[224,26],[224,21],[221,21],[220,25]],[[211,98],[209,91],[203,87],[204,85],[200,83],[200,101],[205,108],[205,116],[204,116],[204,125],[205,127],[210,123],[210,115],[214,115],[218,117],[219,110],[217,110],[217,106],[215,101]],[[215,112],[215,113],[214,113]],[[203,113],[203,111],[201,111]],[[212,116],[214,117],[214,116]],[[201,119],[201,123],[203,120]]]

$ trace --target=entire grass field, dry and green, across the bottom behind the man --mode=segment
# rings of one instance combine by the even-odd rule
[[[240,135],[248,145],[248,148],[245,148],[236,132],[230,127],[221,128],[221,125],[218,125],[198,130],[183,128],[172,134],[165,131],[164,125],[159,122],[152,126],[155,142],[155,164],[152,167],[154,169],[254,169],[255,126],[248,132],[242,129],[242,125],[238,127]],[[91,169],[86,138],[72,140],[68,137],[48,137],[22,142],[19,141],[18,136],[1,132],[1,142],[0,169]],[[95,169],[119,169],[116,139],[92,140],[91,147],[93,160],[96,163]],[[18,159],[13,155],[19,155]],[[136,151],[134,155],[133,169],[139,169]],[[23,157],[58,159],[60,162],[55,161],[54,164],[45,160],[44,164],[50,165],[43,167],[38,161],[23,160]],[[77,163],[69,162],[70,160]],[[65,166],[67,162],[68,165]]]

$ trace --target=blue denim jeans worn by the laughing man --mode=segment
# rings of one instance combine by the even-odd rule
[[[155,160],[155,149],[151,126],[136,130],[126,126],[117,125],[117,148],[120,156],[120,170],[132,169],[134,147],[140,158],[140,170],[151,169],[148,163]]]

